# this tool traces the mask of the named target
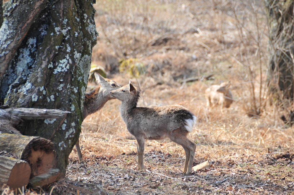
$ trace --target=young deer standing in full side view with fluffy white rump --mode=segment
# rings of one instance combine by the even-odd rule
[[[196,117],[186,108],[179,105],[161,106],[155,108],[136,107],[140,92],[132,82],[120,89],[113,90],[111,97],[121,100],[121,116],[128,131],[138,142],[138,167],[143,170],[143,153],[146,139],[164,139],[169,137],[181,145],[186,154],[183,172],[191,174],[196,144],[187,135],[192,131]]]

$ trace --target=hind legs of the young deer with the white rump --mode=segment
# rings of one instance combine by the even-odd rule
[[[170,139],[173,142],[176,142],[177,144],[181,145],[184,148],[185,154],[186,154],[186,160],[185,160],[183,172],[185,172],[187,175],[189,175],[192,172],[196,144],[191,142],[186,137],[187,134],[188,134],[187,130],[183,130],[181,128],[178,128],[178,129],[173,130],[171,132]]]

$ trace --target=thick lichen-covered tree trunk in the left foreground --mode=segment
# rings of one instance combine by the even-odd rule
[[[23,135],[44,137],[55,144],[57,168],[63,174],[81,132],[97,36],[93,3],[9,1],[0,28],[0,103],[72,112],[60,119],[24,120],[19,129]]]

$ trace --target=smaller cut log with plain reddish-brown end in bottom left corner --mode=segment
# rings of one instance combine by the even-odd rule
[[[28,185],[30,175],[29,163],[0,155],[0,186],[7,184],[13,191],[22,189],[22,186]]]

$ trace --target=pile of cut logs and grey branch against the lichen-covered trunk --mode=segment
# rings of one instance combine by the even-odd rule
[[[23,119],[60,118],[67,111],[35,108],[0,109],[0,185],[12,190],[46,186],[60,179],[54,143],[25,136],[16,129]],[[20,191],[20,190],[19,190]]]

